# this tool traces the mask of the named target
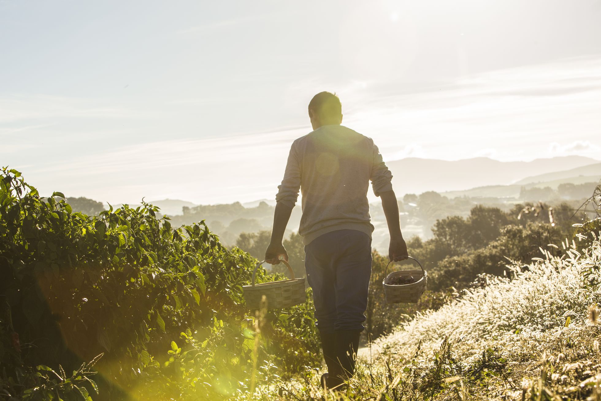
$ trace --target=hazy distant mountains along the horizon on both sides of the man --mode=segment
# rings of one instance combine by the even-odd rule
[[[596,182],[601,176],[601,162],[584,156],[535,159],[531,162],[499,162],[489,158],[458,161],[406,158],[387,162],[386,165],[392,171],[392,183],[399,198],[404,194],[426,191],[445,192],[448,197],[513,197],[519,194],[522,185],[557,188],[563,182]],[[242,206],[257,207],[261,202],[275,205],[275,199],[260,199],[242,203]],[[170,216],[182,215],[184,206],[198,206],[178,199],[150,203]]]

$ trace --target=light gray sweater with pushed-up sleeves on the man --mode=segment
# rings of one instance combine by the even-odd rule
[[[326,125],[293,142],[275,199],[291,209],[301,189],[299,234],[305,245],[335,230],[359,230],[371,237],[369,182],[379,196],[392,191],[391,179],[371,138]]]

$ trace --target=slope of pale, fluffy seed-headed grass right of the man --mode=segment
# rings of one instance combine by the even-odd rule
[[[589,236],[599,238],[599,233]],[[596,240],[585,249],[576,244],[566,249],[566,243],[560,247],[563,257],[545,251],[544,259],[513,266],[513,280],[495,279],[487,287],[466,291],[377,341],[371,350],[380,350],[374,370],[381,372],[392,353],[395,368],[411,361],[418,364],[418,372],[430,375],[435,372],[429,364],[416,357],[437,355],[434,364],[449,369],[439,373],[448,383],[440,385],[441,396],[459,387],[476,399],[535,399],[542,392],[549,394],[543,399],[553,394],[586,399],[589,386],[601,382],[601,290],[598,281],[584,278],[597,277],[601,243]]]

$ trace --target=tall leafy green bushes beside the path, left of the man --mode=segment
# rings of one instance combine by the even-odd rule
[[[41,198],[19,172],[3,169],[2,390],[25,396],[37,375],[28,367],[76,370],[100,354],[100,399],[144,391],[153,399],[215,399],[245,388],[256,358],[289,372],[316,363],[310,304],[265,323],[254,351],[255,317],[242,285],[256,261],[222,246],[204,221],[174,229],[147,203],[87,216],[55,197],[64,195]],[[259,282],[275,279],[258,271]],[[281,352],[290,338],[296,355]],[[94,386],[83,384],[91,394]]]

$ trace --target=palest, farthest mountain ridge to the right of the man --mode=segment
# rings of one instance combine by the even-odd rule
[[[458,161],[406,158],[387,162],[397,195],[426,191],[458,191],[490,185],[509,185],[525,176],[570,170],[599,161],[582,156],[500,162],[489,158]],[[578,174],[576,174],[578,175]],[[555,178],[554,178],[555,179]]]

